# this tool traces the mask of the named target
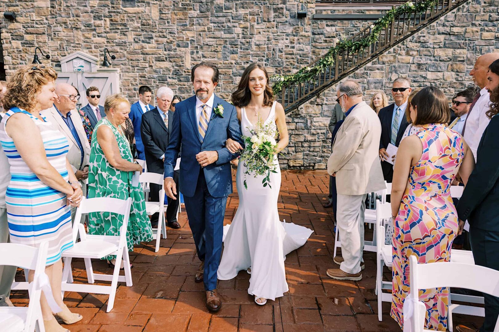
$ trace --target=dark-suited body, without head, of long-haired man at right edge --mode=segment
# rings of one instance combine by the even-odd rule
[[[492,117],[477,150],[477,165],[471,173],[457,212],[459,232],[470,223],[470,243],[475,264],[499,271],[499,117]],[[462,165],[463,168],[466,165]],[[470,167],[471,168],[471,167]],[[462,325],[458,332],[492,332],[499,314],[499,298],[484,294],[485,321],[480,330]]]

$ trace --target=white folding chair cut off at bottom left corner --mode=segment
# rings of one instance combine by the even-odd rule
[[[49,304],[55,303],[45,274],[47,248],[47,242],[41,243],[38,248],[23,244],[0,243],[0,265],[18,266],[25,270],[34,270],[32,282],[14,282],[12,284],[12,289],[28,290],[29,305],[27,307],[0,307],[1,331],[34,332],[36,329],[38,332],[45,332],[40,308],[42,287]],[[57,305],[55,306],[54,308],[58,308]]]

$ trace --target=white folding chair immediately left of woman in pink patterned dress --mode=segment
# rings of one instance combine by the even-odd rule
[[[383,320],[381,304],[391,302],[392,294],[383,293],[383,290],[392,290],[392,281],[383,281],[383,267],[392,266],[392,246],[385,244],[385,222],[392,218],[390,203],[381,204],[376,201],[376,295],[378,296],[378,320]]]

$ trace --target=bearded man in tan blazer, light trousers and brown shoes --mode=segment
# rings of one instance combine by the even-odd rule
[[[336,177],[335,218],[343,257],[334,257],[340,268],[328,269],[327,275],[339,280],[361,280],[366,196],[386,188],[378,156],[381,124],[376,112],[362,101],[362,89],[357,83],[340,84],[336,94],[346,117],[336,134],[327,172]]]

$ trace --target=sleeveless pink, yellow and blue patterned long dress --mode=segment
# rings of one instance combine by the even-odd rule
[[[409,256],[418,263],[448,262],[458,231],[451,184],[464,158],[459,133],[443,124],[427,124],[416,135],[423,144],[421,160],[411,167],[398,217],[394,222],[393,284],[390,315],[403,327],[402,306],[410,291]],[[425,327],[447,331],[449,288],[419,291],[427,308]]]

